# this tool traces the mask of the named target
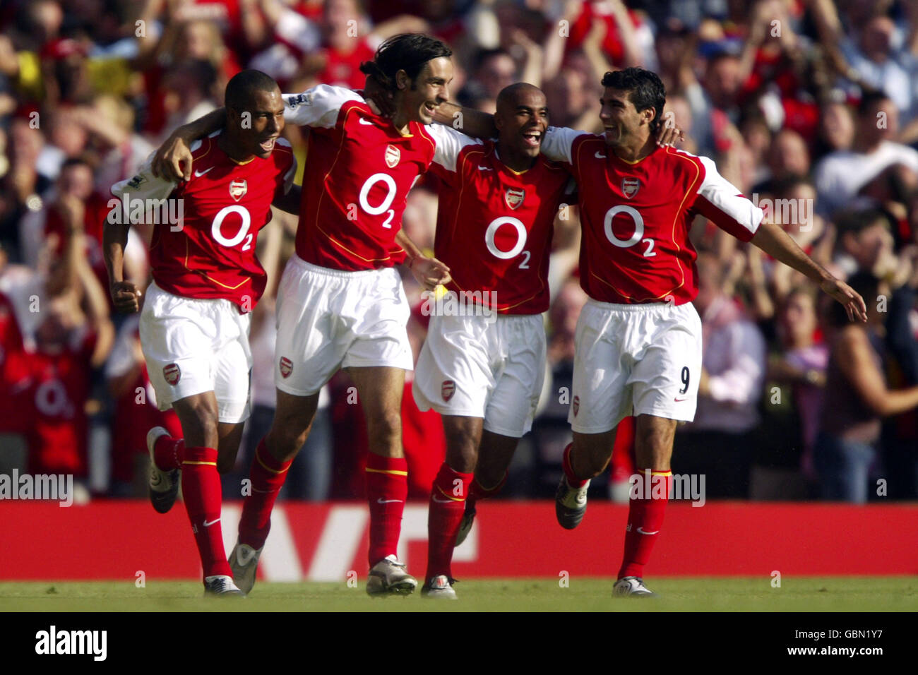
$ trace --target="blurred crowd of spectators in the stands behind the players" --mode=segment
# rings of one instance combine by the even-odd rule
[[[137,316],[111,311],[101,253],[109,187],[177,125],[222,104],[241,68],[285,92],[361,88],[386,37],[425,32],[454,51],[453,100],[493,112],[501,88],[543,88],[551,122],[599,130],[599,80],[639,65],[666,85],[683,149],[782,224],[864,296],[850,324],[811,282],[711,223],[696,222],[704,372],[673,469],[708,498],[874,501],[918,496],[918,2],[909,0],[6,0],[0,6],[0,472],[72,473],[84,495],[140,496],[158,411]],[[305,160],[306,130],[285,137]],[[300,174],[301,175],[301,174]],[[300,177],[297,177],[299,182]],[[432,249],[437,186],[409,196],[404,227]],[[577,208],[555,222],[540,413],[505,492],[550,497],[573,372]],[[253,414],[237,473],[274,411],[271,289],[296,219],[259,242],[269,290],[252,324]],[[149,228],[126,274],[148,283]],[[420,288],[405,276],[409,298]],[[425,317],[409,332],[416,354]],[[436,413],[406,388],[411,494],[442,462]],[[628,421],[608,480],[627,498]],[[359,497],[366,432],[346,374],[324,390],[284,496]],[[227,492],[231,498],[233,492]],[[597,494],[596,496],[599,496]]]

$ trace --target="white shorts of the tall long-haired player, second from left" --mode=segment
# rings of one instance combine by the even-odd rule
[[[274,385],[311,396],[339,368],[412,370],[410,313],[393,267],[341,272],[294,254],[277,288]]]

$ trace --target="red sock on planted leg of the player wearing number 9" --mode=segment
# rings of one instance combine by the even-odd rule
[[[641,479],[641,490],[632,498],[628,506],[628,527],[625,528],[625,553],[621,560],[619,579],[624,577],[643,577],[644,565],[654,550],[656,537],[663,529],[663,515],[666,512],[666,501],[673,487],[673,472],[652,471],[650,474],[650,494],[646,494],[644,471],[638,474]],[[639,498],[639,499],[638,499]]]

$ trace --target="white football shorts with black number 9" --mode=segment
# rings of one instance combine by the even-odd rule
[[[695,418],[701,320],[690,302],[618,305],[589,299],[577,320],[575,345],[567,416],[575,432],[608,432],[631,414]]]

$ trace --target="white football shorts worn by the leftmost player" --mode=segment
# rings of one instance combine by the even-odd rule
[[[140,346],[161,411],[213,391],[220,422],[249,418],[251,319],[229,300],[182,298],[151,283],[140,312]]]

